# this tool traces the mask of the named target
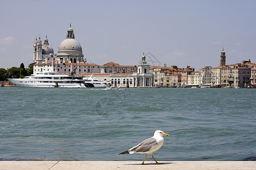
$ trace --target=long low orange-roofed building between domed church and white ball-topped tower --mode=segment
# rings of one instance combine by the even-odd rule
[[[114,73],[115,71],[122,71],[122,72],[133,72],[137,71],[137,66],[122,66],[118,63],[108,62],[105,65],[101,66],[101,73]]]

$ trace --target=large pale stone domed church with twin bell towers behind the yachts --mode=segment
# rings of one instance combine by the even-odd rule
[[[58,49],[58,53],[53,53],[53,48],[49,45],[48,38],[36,39],[34,42],[34,74],[51,70],[52,62],[55,71],[60,74],[75,73],[100,73],[100,65],[89,64],[84,59],[82,47],[75,39],[73,28],[68,28],[66,39],[63,40]],[[80,69],[79,69],[80,68]],[[75,70],[76,69],[76,70]]]

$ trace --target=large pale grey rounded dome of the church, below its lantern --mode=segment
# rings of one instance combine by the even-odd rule
[[[60,43],[58,52],[65,52],[65,51],[79,51],[82,52],[82,47],[79,41],[75,39],[65,39]]]

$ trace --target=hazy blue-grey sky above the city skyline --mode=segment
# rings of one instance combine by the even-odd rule
[[[36,37],[47,35],[54,53],[69,24],[89,63],[154,66],[256,63],[256,1],[37,1],[1,0],[0,68],[27,67]]]

